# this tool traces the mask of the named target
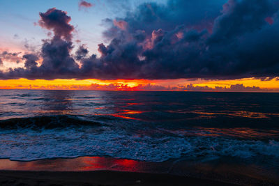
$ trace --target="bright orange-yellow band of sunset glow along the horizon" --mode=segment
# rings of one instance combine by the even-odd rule
[[[209,88],[227,87],[234,84],[243,86],[258,86],[267,91],[279,91],[279,81],[272,79],[261,81],[260,79],[246,78],[234,80],[209,81],[203,79],[8,79],[0,80],[0,89],[55,89],[55,90],[107,90],[107,91],[179,91],[179,86],[193,84],[193,86],[208,86]],[[147,88],[146,88],[147,87]],[[155,89],[152,89],[155,88]]]

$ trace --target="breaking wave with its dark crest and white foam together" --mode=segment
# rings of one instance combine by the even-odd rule
[[[112,121],[105,121],[111,119]],[[138,125],[137,125],[138,124]],[[146,124],[146,123],[145,123]],[[113,116],[84,118],[77,115],[34,116],[0,121],[0,158],[39,160],[56,157],[110,156],[148,162],[169,159],[209,160],[239,157],[276,163],[278,133],[268,139],[250,139],[257,130],[199,128],[154,131],[144,123],[123,122]],[[90,127],[82,127],[82,126]],[[99,127],[98,127],[99,126]],[[43,130],[36,130],[43,129]],[[44,130],[47,129],[47,130]],[[236,137],[241,134],[241,138]],[[250,134],[250,135],[251,135]]]

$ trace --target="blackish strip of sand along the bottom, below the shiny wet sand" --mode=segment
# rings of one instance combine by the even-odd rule
[[[224,185],[162,173],[0,171],[0,185]],[[231,185],[231,184],[226,184]]]

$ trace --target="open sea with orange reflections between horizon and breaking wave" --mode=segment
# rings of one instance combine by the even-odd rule
[[[163,128],[197,134],[207,128],[203,135],[276,137],[279,94],[0,91],[0,120],[55,115],[83,116],[89,121],[110,116],[122,125],[142,121],[156,132]]]

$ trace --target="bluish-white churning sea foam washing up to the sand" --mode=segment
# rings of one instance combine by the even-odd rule
[[[132,135],[123,130],[103,132],[84,127],[64,130],[6,130],[0,132],[0,157],[38,160],[54,157],[111,156],[162,162],[179,157],[279,157],[279,141],[221,137]]]

